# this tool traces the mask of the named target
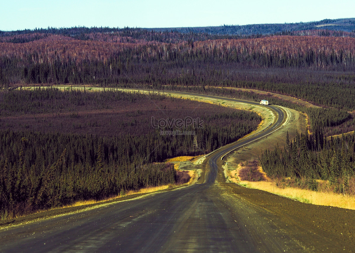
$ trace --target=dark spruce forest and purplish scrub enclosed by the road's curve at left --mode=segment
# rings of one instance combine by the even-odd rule
[[[179,178],[174,167],[159,162],[208,153],[253,131],[261,121],[248,111],[113,89],[9,90],[0,93],[0,107],[4,216],[175,183]],[[200,117],[202,125],[157,129],[152,116]],[[230,123],[221,126],[220,121]]]

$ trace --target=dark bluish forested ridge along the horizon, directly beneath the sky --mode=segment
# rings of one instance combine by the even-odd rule
[[[130,27],[48,27],[17,31],[0,31],[0,42],[26,43],[47,37],[49,34],[64,35],[80,40],[112,39],[120,42],[157,41],[176,43],[208,39],[259,38],[270,35],[318,35],[332,37],[355,37],[355,18],[324,19],[321,21],[284,23],[223,25],[210,27],[178,28],[130,28]],[[93,36],[93,34],[100,34]],[[115,42],[117,42],[115,40]]]

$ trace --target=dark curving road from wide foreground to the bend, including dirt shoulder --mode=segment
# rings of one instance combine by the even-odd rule
[[[261,135],[283,123],[283,110],[271,108],[278,116]],[[242,142],[209,155],[203,163],[206,175],[195,185],[2,229],[0,252],[351,252],[355,248],[355,211],[299,203],[225,183],[220,158]]]

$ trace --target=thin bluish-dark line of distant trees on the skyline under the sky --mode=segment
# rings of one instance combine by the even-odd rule
[[[130,28],[130,27],[47,27],[47,28],[35,28],[35,29],[24,29],[18,31],[0,31],[0,37],[6,36],[11,37],[14,35],[23,35],[23,34],[56,34],[56,35],[65,35],[75,38],[82,38],[81,34],[120,34],[126,35],[131,38],[139,39],[148,39],[151,38],[147,34],[155,34],[154,40],[160,41],[164,38],[165,34],[171,33],[178,34],[180,37],[184,35],[195,35],[194,37],[198,40],[198,35],[203,35],[202,40],[206,39],[217,39],[223,38],[226,36],[235,38],[241,36],[252,36],[252,35],[271,35],[271,34],[291,34],[299,31],[326,31],[328,33],[337,32],[337,33],[354,33],[355,29],[355,20],[354,18],[343,18],[337,20],[324,19],[321,21],[313,22],[299,22],[299,23],[283,23],[283,24],[249,24],[249,25],[228,25],[224,24],[223,26],[214,26],[214,27],[178,27],[178,28]],[[324,24],[328,24],[328,29],[324,29]],[[336,25],[337,31],[332,29],[332,24]],[[109,37],[108,36],[108,37]],[[151,38],[152,39],[152,38]],[[200,39],[201,40],[201,39]]]

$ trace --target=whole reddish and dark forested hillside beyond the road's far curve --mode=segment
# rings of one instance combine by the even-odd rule
[[[231,39],[141,28],[2,32],[0,86],[230,86],[353,110],[355,38],[321,32]]]

